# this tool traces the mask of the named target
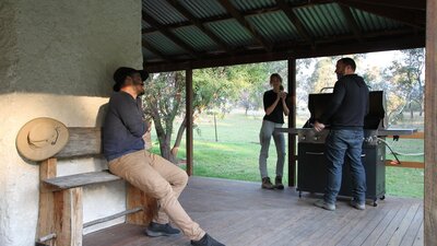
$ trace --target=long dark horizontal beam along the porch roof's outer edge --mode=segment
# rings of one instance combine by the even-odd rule
[[[147,71],[177,71],[187,68],[201,69],[201,68],[212,68],[220,66],[233,66],[241,63],[255,63],[255,62],[265,62],[275,60],[285,60],[291,57],[310,58],[310,57],[322,57],[322,56],[338,56],[345,54],[359,54],[369,51],[385,51],[394,49],[406,49],[406,48],[418,48],[424,47],[425,34],[412,35],[410,33],[399,33],[398,35],[389,34],[383,38],[373,39],[373,36],[380,37],[379,34],[363,35],[366,39],[365,43],[355,42],[355,36],[344,36],[339,37],[335,40],[327,39],[324,43],[317,43],[314,49],[308,44],[281,44],[275,46],[275,49],[271,52],[262,52],[262,50],[240,50],[236,52],[236,56],[216,56],[209,57],[204,60],[179,60],[172,63],[161,62],[161,63],[145,63]]]

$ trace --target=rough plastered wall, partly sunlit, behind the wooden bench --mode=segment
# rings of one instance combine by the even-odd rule
[[[36,117],[101,126],[111,73],[141,68],[140,0],[0,1],[0,245],[34,245],[38,166],[15,148]],[[99,169],[99,160],[61,162],[58,174]],[[123,210],[123,184],[85,189],[84,221]],[[105,208],[102,208],[102,202]]]

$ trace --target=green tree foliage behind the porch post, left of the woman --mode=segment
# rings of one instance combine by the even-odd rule
[[[194,70],[194,121],[204,112],[225,114],[237,103],[246,105],[247,110],[258,108],[267,71],[261,63]],[[144,114],[153,119],[161,154],[172,162],[176,162],[186,129],[185,81],[182,71],[153,74],[143,96]],[[178,116],[184,120],[172,145],[173,126]]]

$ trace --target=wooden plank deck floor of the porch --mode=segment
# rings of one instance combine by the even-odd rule
[[[180,201],[208,233],[227,246],[423,245],[423,200],[387,197],[365,211],[340,200],[334,212],[298,198],[294,188],[263,190],[258,183],[191,177]],[[188,246],[182,235],[149,238],[135,225],[84,237],[84,246]]]

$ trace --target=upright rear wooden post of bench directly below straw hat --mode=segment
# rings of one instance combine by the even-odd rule
[[[36,238],[45,237],[55,232],[55,223],[52,220],[54,212],[54,194],[46,189],[43,180],[56,177],[57,160],[48,159],[39,164],[39,208],[38,208],[38,225]],[[45,242],[45,244],[54,246],[55,242]]]

